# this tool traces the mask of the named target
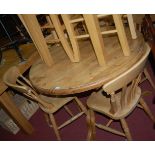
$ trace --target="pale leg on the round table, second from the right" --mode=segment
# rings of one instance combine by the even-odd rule
[[[125,56],[129,56],[130,55],[130,49],[129,49],[128,41],[126,38],[125,30],[123,27],[123,23],[121,20],[121,16],[118,14],[114,14],[113,19],[114,19],[116,30],[117,30],[119,40],[120,40],[120,43],[122,46],[123,53]]]

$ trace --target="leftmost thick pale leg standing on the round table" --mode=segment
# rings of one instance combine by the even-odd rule
[[[21,15],[21,19],[23,24],[26,26],[26,29],[30,33],[30,36],[39,52],[39,55],[41,56],[43,62],[47,66],[52,66],[53,59],[51,54],[49,53],[47,44],[45,42],[45,39],[42,35],[42,31],[40,29],[40,26],[38,24],[36,16],[33,15]]]

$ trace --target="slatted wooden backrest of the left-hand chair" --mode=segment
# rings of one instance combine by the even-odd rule
[[[16,66],[9,68],[5,72],[3,76],[3,81],[9,87],[17,90],[18,92],[24,94],[30,99],[37,101],[43,107],[53,108],[52,104],[46,103],[39,97],[31,82],[20,73],[19,69]]]

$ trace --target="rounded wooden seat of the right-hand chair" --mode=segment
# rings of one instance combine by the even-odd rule
[[[127,93],[129,92],[130,87],[127,88]],[[87,100],[87,105],[90,109],[97,111],[99,113],[103,113],[109,116],[112,119],[118,120],[121,118],[126,117],[131,113],[136,105],[138,104],[139,98],[141,95],[141,89],[137,87],[135,96],[130,104],[126,105],[123,109],[121,109],[120,105],[120,98],[121,92],[117,93],[116,95],[116,104],[118,105],[118,111],[115,114],[110,112],[111,104],[110,104],[110,97],[103,95],[103,90],[98,92],[94,92],[90,95]]]

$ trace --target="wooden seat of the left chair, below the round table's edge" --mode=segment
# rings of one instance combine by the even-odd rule
[[[67,104],[69,101],[73,100],[74,97],[49,97],[49,96],[44,96],[44,95],[39,95],[40,98],[47,102],[48,104],[52,104],[53,108],[49,109],[43,106],[40,106],[40,108],[47,112],[47,113],[54,113],[57,110],[59,110],[62,106]]]

